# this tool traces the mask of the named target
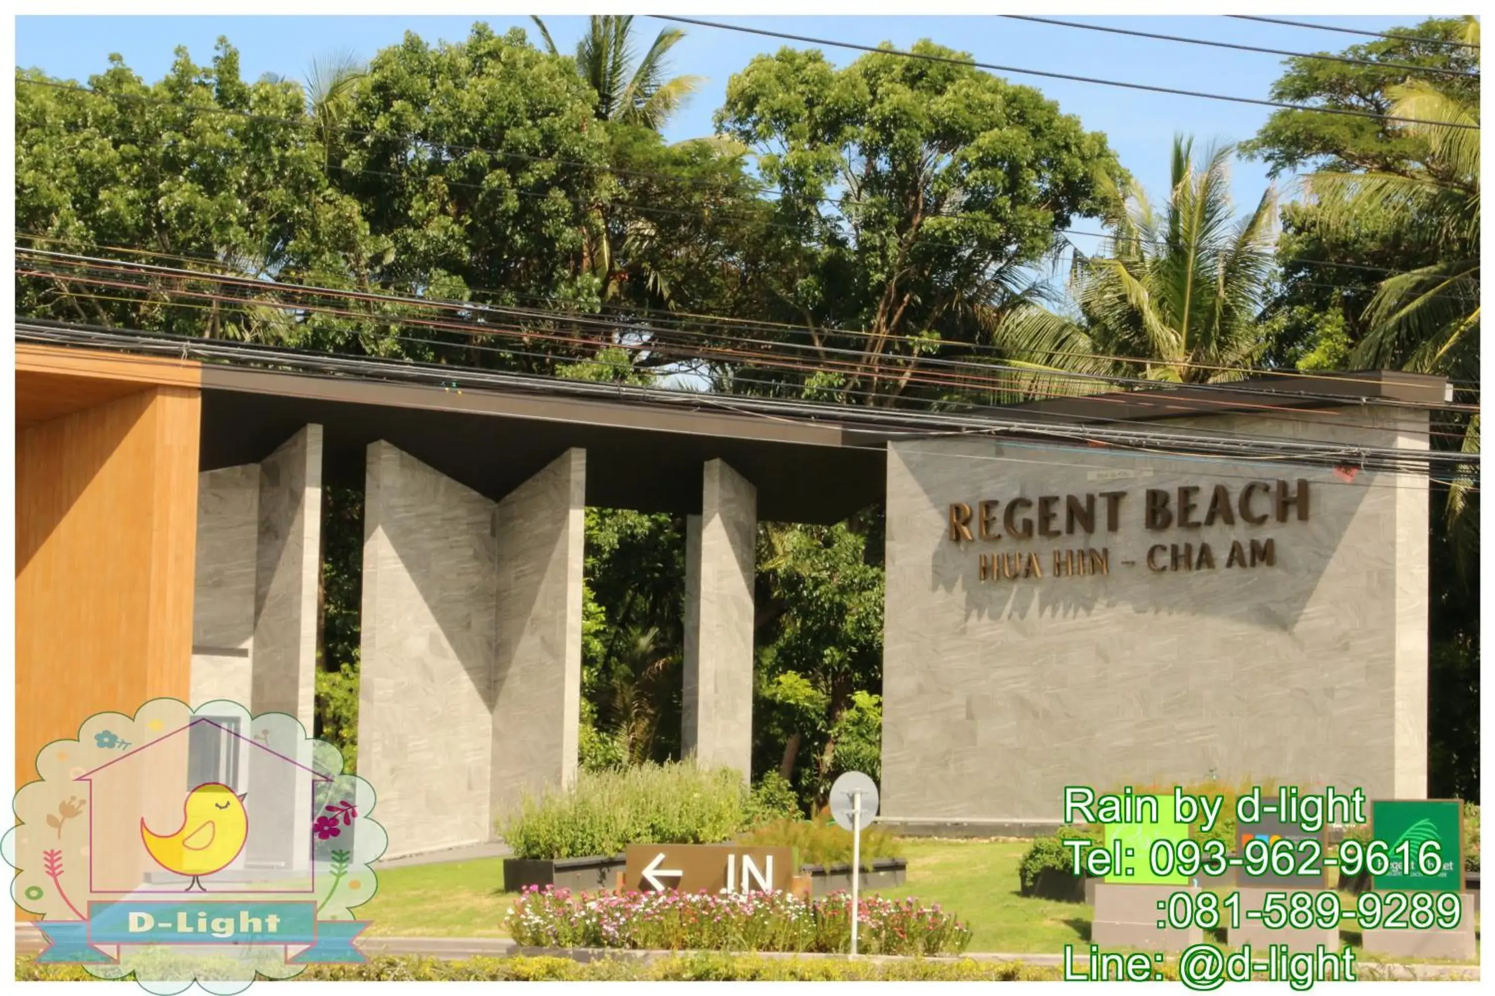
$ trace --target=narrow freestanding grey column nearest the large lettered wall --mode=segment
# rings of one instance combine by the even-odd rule
[[[686,517],[680,747],[752,776],[752,623],[758,491],[722,460]]]

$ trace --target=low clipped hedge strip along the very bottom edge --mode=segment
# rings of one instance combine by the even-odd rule
[[[94,981],[81,965],[37,965],[16,956],[16,981]],[[851,962],[848,959],[764,957],[692,951],[644,962],[635,957],[576,962],[564,957],[514,956],[463,959],[381,954],[365,965],[311,965],[295,981],[335,983],[582,983],[582,981],[761,981],[761,983],[1008,983],[1057,980],[1060,969],[1023,962],[910,959],[903,962]]]

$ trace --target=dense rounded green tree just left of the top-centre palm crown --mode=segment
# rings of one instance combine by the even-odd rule
[[[594,208],[611,193],[607,134],[568,60],[535,49],[520,30],[496,36],[484,24],[460,43],[407,34],[371,60],[342,119],[357,140],[347,143],[336,182],[392,246],[375,285],[449,300],[480,293],[507,305],[595,306],[599,284],[583,251]],[[481,312],[468,318],[486,321]],[[360,345],[517,369],[591,351],[544,339],[508,349],[510,339],[437,330],[420,339],[428,342],[365,333]]]

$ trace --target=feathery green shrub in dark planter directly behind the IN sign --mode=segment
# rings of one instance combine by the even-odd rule
[[[586,857],[638,842],[719,844],[746,815],[742,775],[680,762],[582,771],[571,788],[526,794],[499,833],[514,857]]]

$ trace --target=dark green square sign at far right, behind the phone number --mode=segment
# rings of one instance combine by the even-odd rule
[[[1386,845],[1372,888],[1464,891],[1464,803],[1446,799],[1371,802],[1371,836]]]

